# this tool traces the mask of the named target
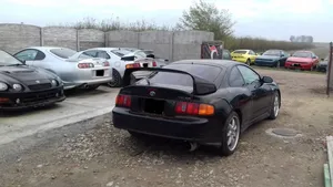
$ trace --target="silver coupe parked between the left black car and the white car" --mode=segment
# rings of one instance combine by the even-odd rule
[[[14,54],[27,65],[46,69],[63,81],[64,90],[84,87],[94,90],[112,81],[107,60],[90,56],[73,56],[77,51],[56,46],[31,46]]]

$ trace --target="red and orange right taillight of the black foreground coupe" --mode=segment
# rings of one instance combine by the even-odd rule
[[[186,115],[213,115],[215,110],[214,106],[209,104],[178,102],[174,112]]]

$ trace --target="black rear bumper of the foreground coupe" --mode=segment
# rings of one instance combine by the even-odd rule
[[[221,121],[199,117],[162,118],[133,114],[122,107],[113,108],[112,118],[114,127],[121,129],[200,144],[221,143],[223,124]]]

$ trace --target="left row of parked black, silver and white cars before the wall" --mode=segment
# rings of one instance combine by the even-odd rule
[[[153,51],[139,49],[94,48],[77,52],[30,46],[13,55],[0,51],[0,111],[61,102],[65,100],[63,90],[121,86],[127,69],[157,66]],[[141,76],[147,73],[134,74]]]

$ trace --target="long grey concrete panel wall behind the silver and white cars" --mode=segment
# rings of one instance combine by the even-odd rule
[[[10,53],[27,46],[64,46],[77,51],[98,46],[139,48],[153,50],[171,62],[200,59],[202,41],[213,41],[204,31],[110,31],[72,28],[39,28],[27,24],[0,24],[0,49]]]

